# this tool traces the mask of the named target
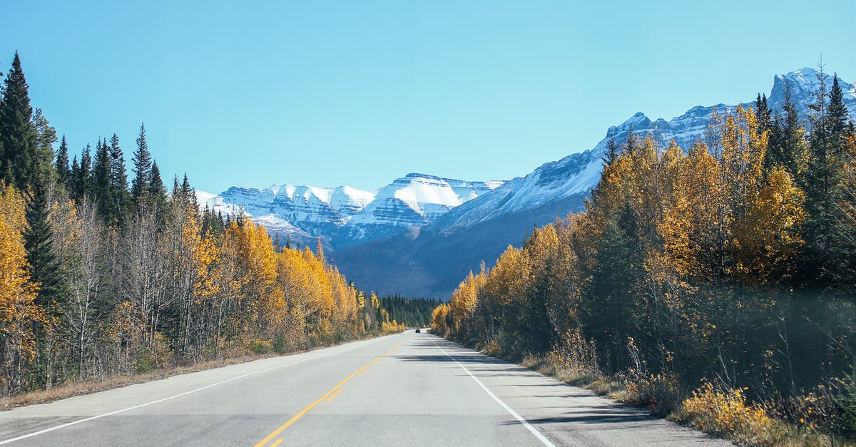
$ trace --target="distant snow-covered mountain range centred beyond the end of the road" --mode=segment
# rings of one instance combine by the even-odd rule
[[[502,184],[407,174],[375,191],[273,185],[232,187],[216,195],[200,191],[197,198],[223,214],[243,212],[283,241],[312,245],[321,237],[328,248],[338,249],[431,224]]]

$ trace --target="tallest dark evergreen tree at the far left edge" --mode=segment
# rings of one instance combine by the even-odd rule
[[[38,134],[32,121],[29,87],[17,51],[3,85],[3,101],[0,101],[0,146],[3,146],[0,173],[15,188],[25,190],[33,178],[41,175],[44,165],[39,154]]]

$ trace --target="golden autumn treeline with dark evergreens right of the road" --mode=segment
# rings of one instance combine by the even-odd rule
[[[434,331],[619,378],[663,411],[704,381],[710,402],[852,433],[856,132],[837,77],[820,81],[805,122],[758,97],[686,153],[610,141],[586,212],[471,273]]]

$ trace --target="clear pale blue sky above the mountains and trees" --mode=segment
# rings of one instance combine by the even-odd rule
[[[72,153],[140,122],[165,182],[373,189],[408,172],[523,176],[643,111],[856,80],[853,0],[9,1],[33,105]]]

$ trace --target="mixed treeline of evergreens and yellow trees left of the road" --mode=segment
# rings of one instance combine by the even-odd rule
[[[285,353],[403,325],[324,259],[164,188],[140,127],[69,162],[33,112],[17,53],[0,97],[0,396],[69,381]]]

